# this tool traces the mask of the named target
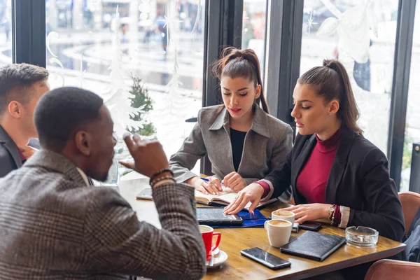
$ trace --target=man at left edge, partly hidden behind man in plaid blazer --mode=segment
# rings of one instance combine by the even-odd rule
[[[34,108],[50,88],[48,71],[30,64],[0,68],[0,177],[22,166],[36,149]],[[30,146],[29,146],[30,145]]]

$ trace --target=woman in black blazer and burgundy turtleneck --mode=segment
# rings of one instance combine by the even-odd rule
[[[248,185],[225,213],[277,197],[292,185],[297,223],[329,218],[340,228],[363,225],[401,241],[404,217],[388,161],[362,136],[349,76],[337,60],[304,73],[293,92],[299,134],[286,162]],[[268,193],[268,195],[266,195]]]

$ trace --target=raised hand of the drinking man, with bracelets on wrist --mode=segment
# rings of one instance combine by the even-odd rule
[[[130,151],[134,158],[134,162],[120,162],[121,165],[148,177],[154,175],[153,181],[158,182],[157,186],[162,185],[166,181],[168,181],[168,183],[169,181],[174,182],[169,171],[160,172],[164,169],[169,169],[169,163],[162,145],[158,141],[142,141],[138,134],[134,134],[134,136],[131,137],[128,132],[123,134],[123,138],[128,151]],[[167,179],[160,180],[164,176],[167,176]]]

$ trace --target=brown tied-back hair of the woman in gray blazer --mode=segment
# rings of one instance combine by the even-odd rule
[[[235,47],[225,48],[221,58],[213,63],[212,70],[214,76],[219,80],[221,80],[222,77],[241,77],[252,80],[254,87],[261,85],[260,97],[255,99],[255,103],[261,106],[265,113],[269,113],[268,105],[264,97],[264,90],[262,90],[260,62],[253,50],[239,50]]]

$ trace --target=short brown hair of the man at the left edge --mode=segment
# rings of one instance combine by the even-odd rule
[[[27,89],[36,82],[48,79],[48,71],[40,66],[21,63],[0,67],[0,116],[8,104],[16,100],[27,103],[30,94]]]

